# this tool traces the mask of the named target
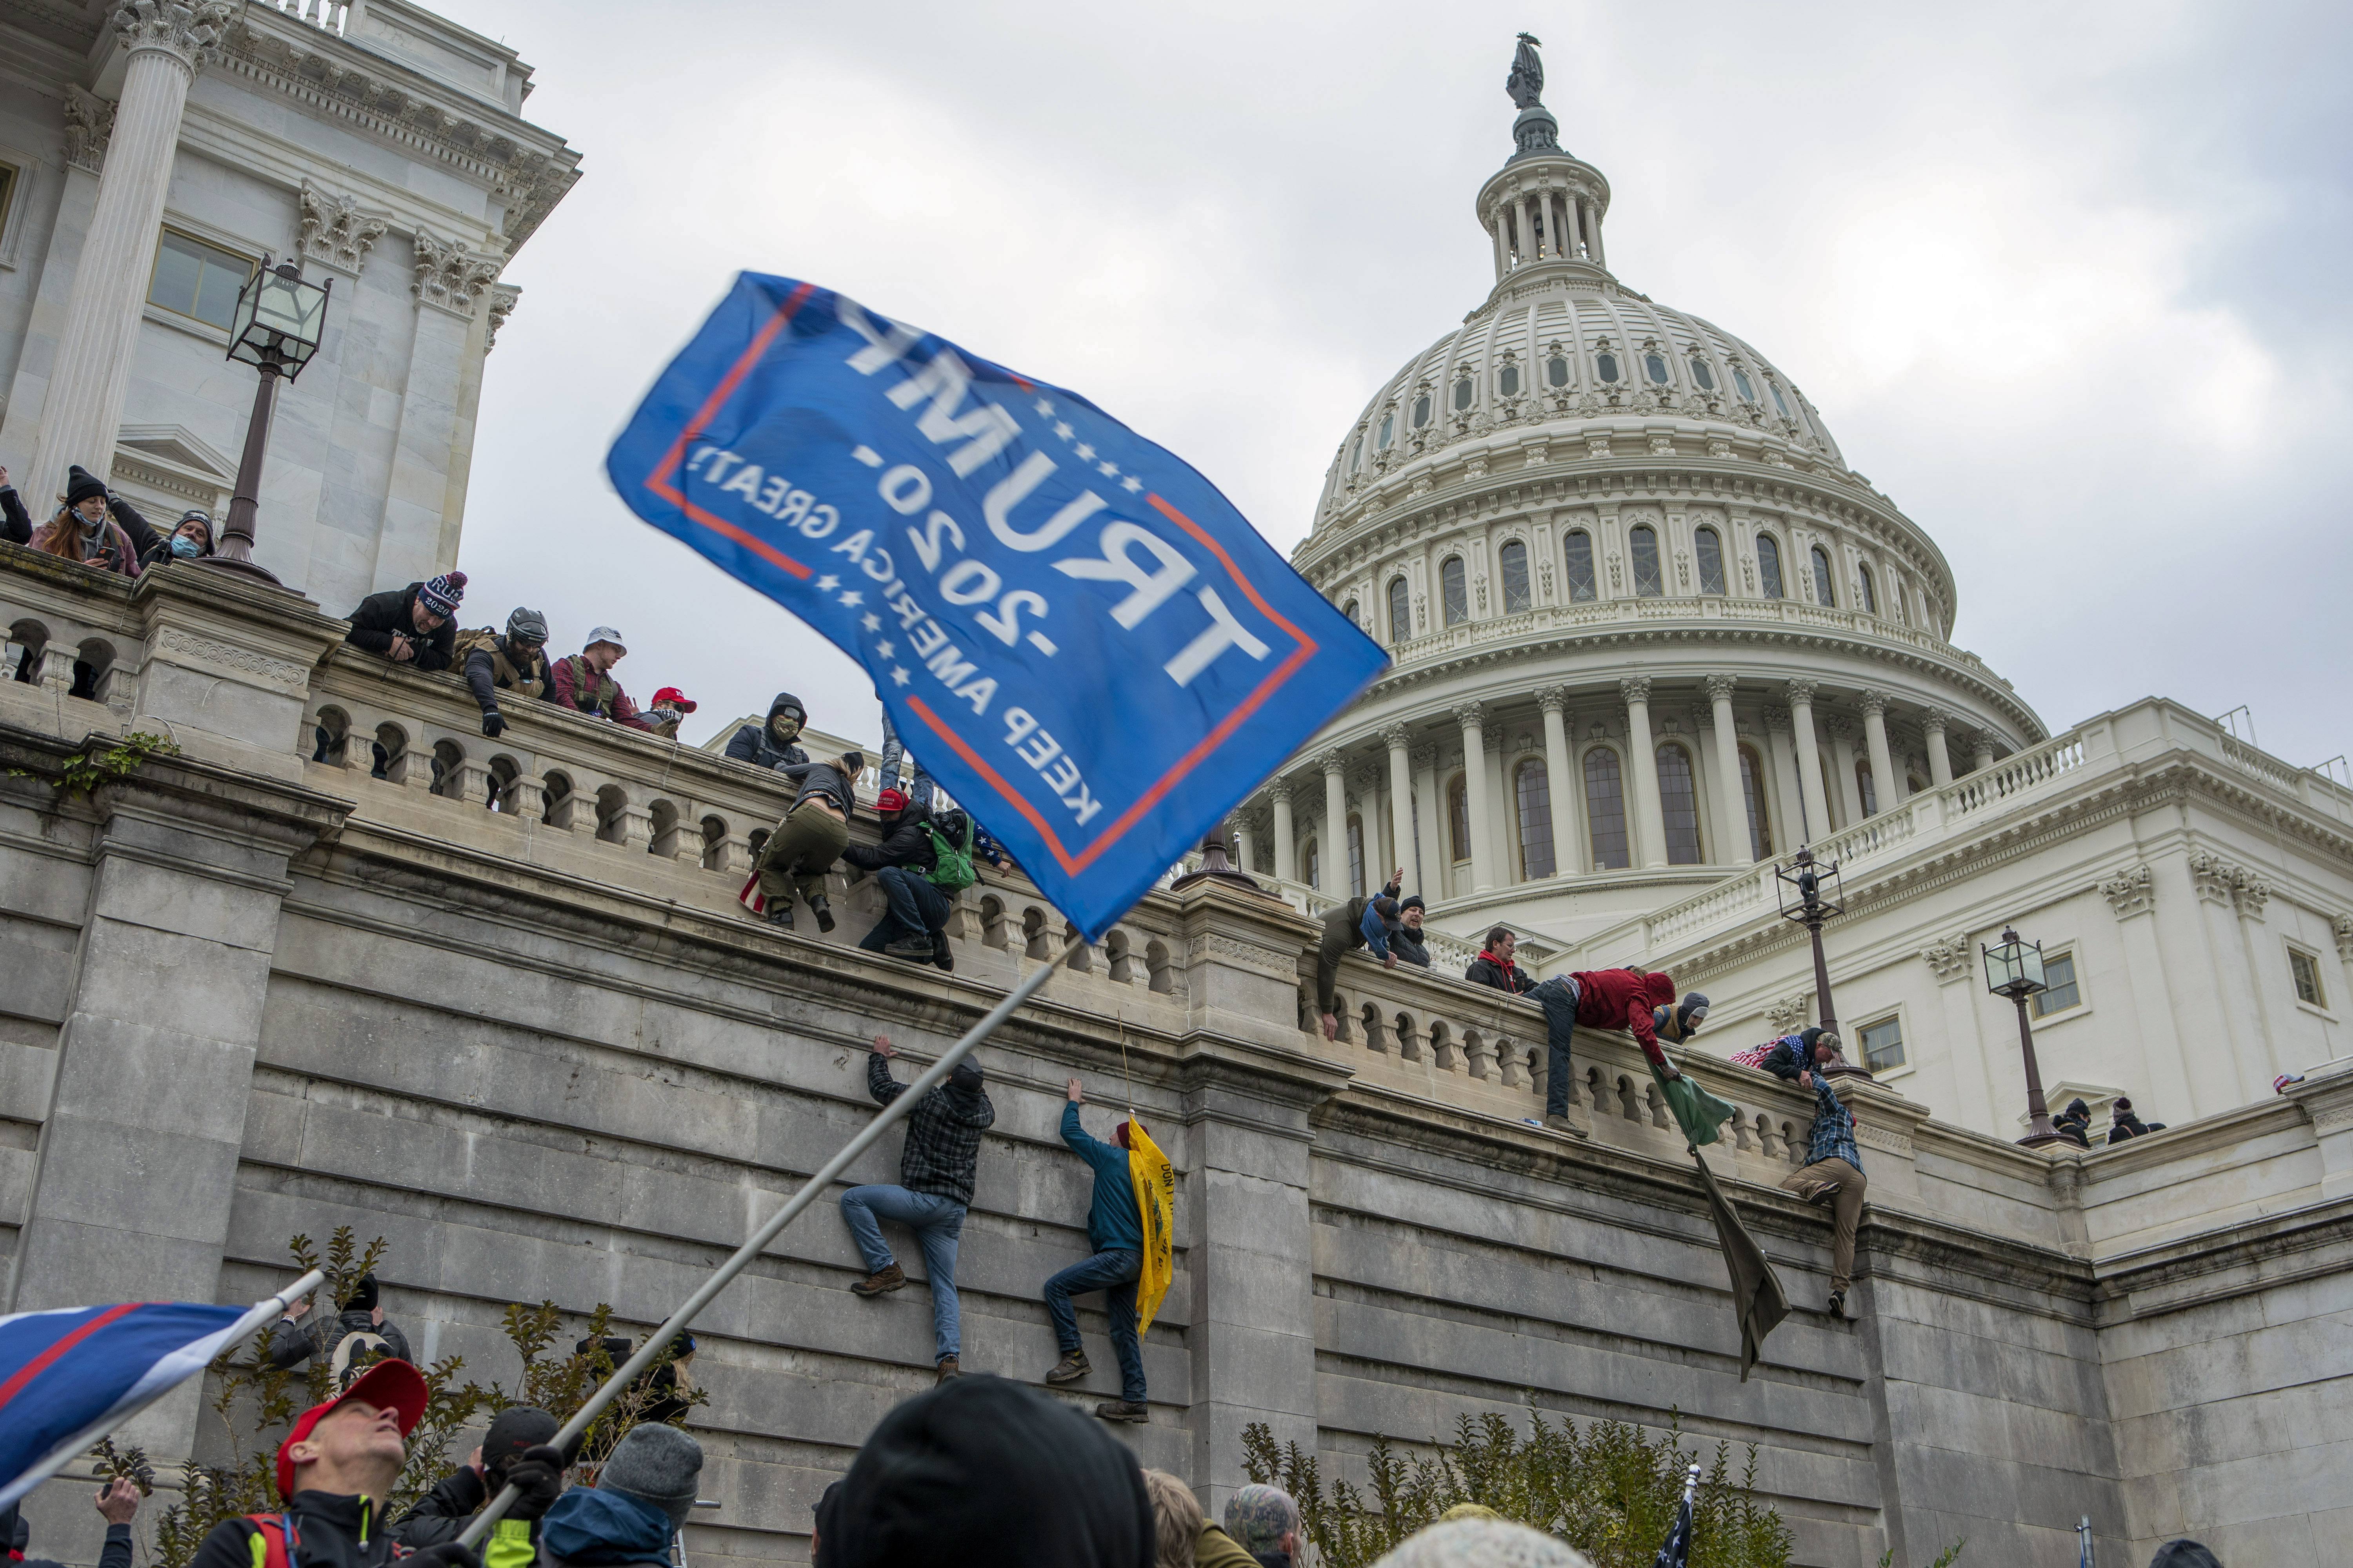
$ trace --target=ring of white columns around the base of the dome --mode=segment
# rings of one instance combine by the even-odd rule
[[[1741,693],[1737,675],[1706,675],[1699,679],[1704,705],[1694,705],[1692,729],[1680,729],[1680,719],[1666,717],[1659,733],[1654,705],[1666,701],[1654,677],[1626,677],[1619,682],[1619,705],[1605,717],[1607,736],[1579,741],[1572,726],[1572,691],[1546,686],[1534,693],[1541,715],[1544,757],[1544,806],[1551,816],[1551,875],[1586,875],[1614,870],[1595,865],[1595,842],[1586,802],[1586,752],[1607,745],[1619,757],[1619,788],[1626,827],[1626,870],[1664,870],[1680,851],[1689,863],[1692,837],[1678,832],[1678,844],[1668,842],[1668,802],[1661,792],[1659,748],[1664,741],[1685,748],[1692,764],[1689,811],[1697,816],[1697,846],[1711,865],[1748,865],[1758,851],[1758,832],[1751,823],[1751,783],[1741,773],[1744,748],[1755,771],[1758,811],[1765,813],[1765,849],[1788,853],[1800,842],[1817,842],[1833,830],[1864,820],[1864,795],[1857,762],[1871,769],[1871,806],[1889,811],[1911,795],[1911,778],[1899,764],[1897,738],[1889,733],[1892,698],[1885,691],[1864,689],[1852,698],[1852,710],[1861,715],[1861,729],[1847,712],[1817,719],[1819,682],[1779,682],[1772,696],[1786,705],[1762,708],[1765,733],[1744,733],[1734,712]],[[1755,682],[1751,698],[1767,696]],[[1591,693],[1588,693],[1591,701]],[[1845,703],[1842,703],[1845,705]],[[1678,712],[1668,708],[1666,715]],[[1602,715],[1593,715],[1602,717]],[[1313,825],[1318,846],[1315,884],[1332,898],[1351,896],[1348,820],[1362,832],[1365,886],[1386,877],[1388,867],[1402,865],[1407,886],[1431,898],[1487,893],[1499,886],[1522,882],[1520,849],[1520,790],[1518,776],[1504,773],[1506,764],[1501,736],[1504,715],[1482,701],[1459,703],[1449,710],[1454,736],[1461,743],[1461,813],[1457,818],[1452,799],[1440,783],[1438,745],[1417,745],[1412,724],[1391,724],[1381,731],[1381,752],[1358,757],[1341,748],[1327,748],[1311,759],[1311,769],[1322,780],[1322,816]],[[1617,719],[1609,724],[1609,719]],[[1513,719],[1518,722],[1518,719]],[[1974,750],[1974,766],[1993,764],[1993,738],[1967,733],[1951,715],[1937,708],[1913,712],[1918,741],[1906,736],[1904,755],[1922,750],[1927,755],[1927,785],[1953,783],[1951,745]],[[1595,731],[1598,733],[1598,731]],[[1861,755],[1857,755],[1857,733]],[[1428,736],[1419,736],[1428,741]],[[1527,736],[1522,733],[1522,748]],[[1828,766],[1824,752],[1831,752]],[[1680,780],[1678,780],[1680,783]],[[1299,825],[1301,776],[1278,778],[1266,790],[1273,827],[1273,870],[1285,882],[1301,882],[1306,865],[1301,856],[1304,832]],[[1838,795],[1833,797],[1833,785]],[[1308,785],[1313,799],[1313,785]],[[1534,790],[1534,780],[1529,780]],[[1680,790],[1678,790],[1680,795]],[[1678,799],[1678,809],[1682,802]],[[1529,804],[1529,825],[1534,806]],[[1242,863],[1257,863],[1259,820],[1242,830]],[[1457,827],[1468,839],[1468,856],[1457,860]],[[1529,832],[1527,837],[1534,837]],[[1449,875],[1452,872],[1452,875]]]

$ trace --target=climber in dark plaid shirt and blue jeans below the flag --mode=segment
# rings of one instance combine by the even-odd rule
[[[896,1051],[875,1034],[866,1058],[866,1091],[875,1105],[889,1105],[906,1084],[885,1065]],[[906,1119],[906,1147],[899,1152],[899,1185],[852,1187],[842,1194],[842,1220],[866,1258],[866,1279],[849,1286],[873,1300],[906,1284],[880,1220],[899,1220],[922,1246],[922,1267],[932,1276],[932,1354],[939,1382],[962,1371],[960,1319],[955,1312],[955,1241],[965,1234],[965,1206],[972,1204],[972,1166],[981,1157],[981,1133],[998,1119],[981,1091],[981,1067],[972,1058],[955,1065],[948,1081],[922,1098]]]

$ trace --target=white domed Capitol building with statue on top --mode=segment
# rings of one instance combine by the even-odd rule
[[[2162,701],[2052,733],[1788,371],[1609,270],[1607,179],[1515,99],[1494,287],[1365,404],[1292,557],[1393,665],[1247,802],[1245,863],[1308,912],[1402,865],[1457,964],[1504,924],[1539,976],[1668,969],[1732,1051],[1824,1016],[1772,877],[1809,846],[1849,1053],[1986,1133],[2026,1107],[1979,969],[2009,924],[2094,1135],[2118,1093],[2186,1121],[2353,1051],[2353,795]]]

